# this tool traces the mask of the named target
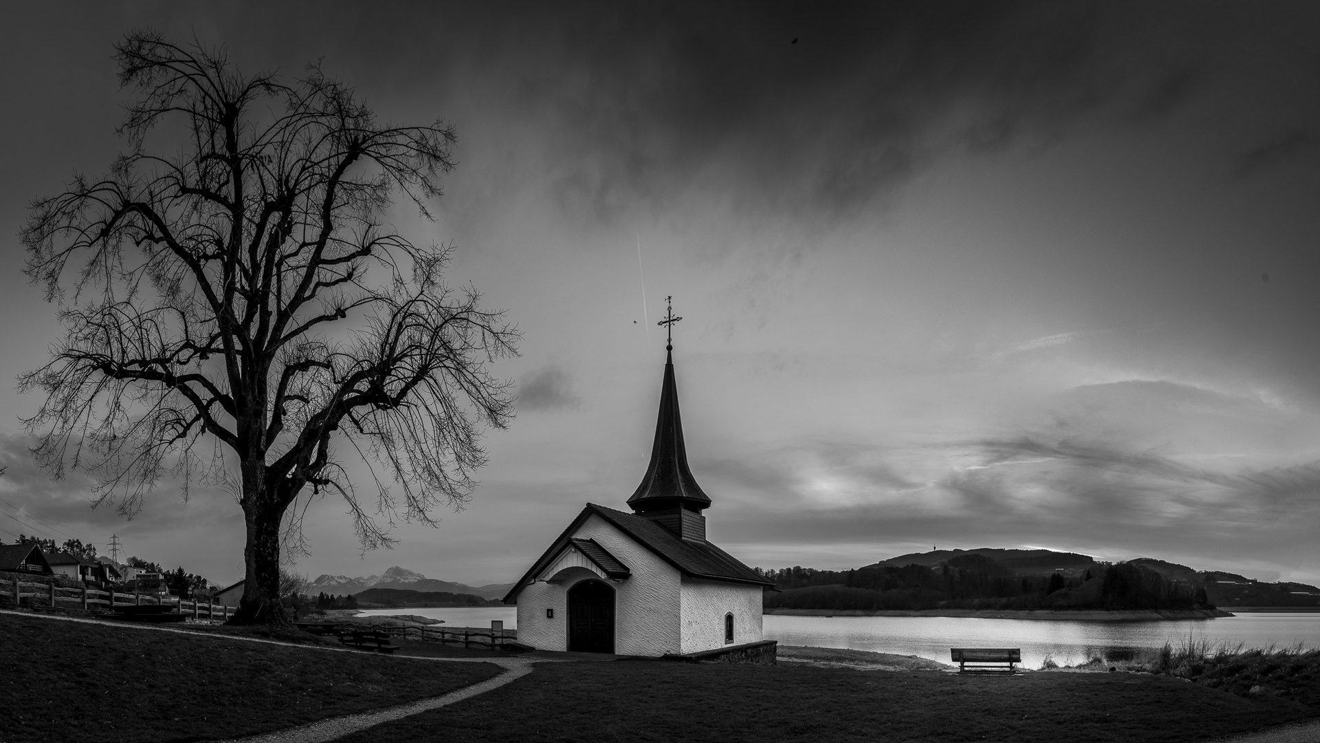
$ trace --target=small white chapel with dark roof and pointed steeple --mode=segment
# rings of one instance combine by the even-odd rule
[[[706,539],[711,501],[688,467],[672,344],[651,464],[627,505],[586,504],[513,584],[519,643],[652,657],[759,644],[774,583]]]

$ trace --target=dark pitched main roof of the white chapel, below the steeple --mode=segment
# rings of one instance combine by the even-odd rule
[[[651,550],[656,554],[656,557],[676,567],[680,572],[689,578],[709,578],[713,580],[752,583],[756,586],[775,584],[774,580],[762,578],[756,574],[756,571],[739,562],[738,558],[730,555],[710,542],[684,539],[655,521],[634,516],[631,513],[624,513],[622,510],[615,510],[612,508],[606,508],[603,505],[586,504],[586,508],[578,513],[577,518],[569,524],[568,529],[565,529],[558,538],[554,539],[550,547],[541,554],[540,559],[532,563],[532,567],[523,575],[521,579],[519,579],[517,583],[513,584],[513,588],[504,596],[504,603],[512,602],[523,587],[527,586],[536,576],[536,574],[544,570],[549,561],[560,554],[560,550],[562,550],[565,545],[570,541],[576,543],[577,541],[573,539],[573,534],[591,516],[599,516],[607,524],[619,531],[623,531],[632,538],[632,541]]]

